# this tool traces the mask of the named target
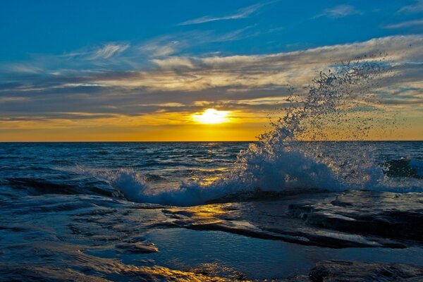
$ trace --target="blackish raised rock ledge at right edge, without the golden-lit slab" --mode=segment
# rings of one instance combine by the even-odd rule
[[[421,193],[347,191],[331,201],[290,204],[289,214],[317,228],[423,242]]]

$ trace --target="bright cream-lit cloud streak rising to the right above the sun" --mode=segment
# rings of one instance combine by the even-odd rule
[[[354,60],[366,54],[380,54],[382,58],[386,53],[386,59],[393,61],[407,56],[419,57],[419,52],[423,51],[422,43],[422,37],[385,37],[278,54],[185,56],[180,60],[172,57],[155,60],[161,72],[143,73],[144,79],[135,83],[152,89],[188,91],[210,87],[263,89],[288,83],[302,85],[309,83],[317,71],[336,61]]]

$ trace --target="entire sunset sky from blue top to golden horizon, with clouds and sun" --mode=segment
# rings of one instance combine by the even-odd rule
[[[0,141],[255,140],[364,55],[368,138],[423,140],[423,0],[1,1],[0,40]]]

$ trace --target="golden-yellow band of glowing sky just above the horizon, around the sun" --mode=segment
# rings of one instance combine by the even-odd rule
[[[98,118],[78,113],[84,118],[52,118],[46,120],[0,121],[0,142],[137,142],[137,141],[253,141],[257,136],[271,129],[269,115],[265,111],[218,111],[214,109],[217,120],[202,118],[212,108],[203,111],[156,111],[154,114],[140,116],[114,115]],[[209,113],[210,111],[207,111]],[[357,118],[371,118],[360,114]],[[392,111],[390,116],[395,116]],[[274,114],[272,118],[283,115]],[[357,113],[350,114],[353,117]],[[195,121],[194,117],[199,117]],[[208,114],[206,115],[208,116]],[[385,123],[384,118],[373,118],[373,127],[364,140],[423,140],[423,116],[409,111],[398,122]],[[220,123],[216,123],[219,121]],[[381,123],[386,127],[379,126]],[[354,125],[354,124],[352,124]],[[327,140],[351,139],[354,130],[351,126],[328,124]],[[307,137],[307,136],[305,136]]]

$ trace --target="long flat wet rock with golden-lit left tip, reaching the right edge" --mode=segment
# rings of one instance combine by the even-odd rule
[[[321,247],[396,247],[423,243],[423,194],[324,192],[163,209],[162,228],[225,231]]]

